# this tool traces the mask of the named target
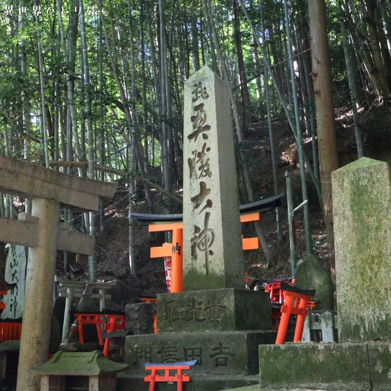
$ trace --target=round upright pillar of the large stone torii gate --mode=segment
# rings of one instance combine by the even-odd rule
[[[59,213],[59,202],[32,201],[32,215],[39,218],[38,245],[28,252],[17,391],[39,391],[39,376],[28,368],[48,360]]]

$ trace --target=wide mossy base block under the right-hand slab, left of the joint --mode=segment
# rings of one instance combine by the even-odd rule
[[[261,389],[367,391],[365,343],[260,345]]]

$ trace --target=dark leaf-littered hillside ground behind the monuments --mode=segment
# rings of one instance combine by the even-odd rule
[[[389,109],[387,109],[390,115]],[[352,130],[351,111],[345,108],[336,110],[337,114],[337,139],[339,147],[340,165],[347,164],[357,158],[355,153],[354,132]],[[378,114],[378,113],[377,113]],[[364,118],[366,125],[373,121],[374,116]],[[367,114],[365,114],[368,116]],[[365,128],[365,124],[363,126]],[[278,165],[278,186],[279,192],[286,191],[285,171],[291,173],[292,194],[294,206],[302,202],[301,180],[299,164],[294,136],[287,123],[278,118],[273,121],[275,149]],[[367,129],[366,129],[367,130]],[[250,175],[256,199],[271,197],[274,195],[273,173],[271,165],[271,154],[269,146],[269,135],[267,122],[252,124],[247,127],[245,154],[250,167]],[[311,137],[304,138],[304,146],[308,156],[312,154]],[[150,176],[157,181],[160,175],[160,168],[151,169]],[[182,170],[179,170],[180,172]],[[181,179],[179,182],[182,182]],[[327,251],[327,241],[323,215],[317,201],[316,192],[310,177],[307,178],[310,223],[313,254],[328,268],[329,254]],[[181,185],[178,185],[180,188]],[[141,188],[139,193],[141,194]],[[106,207],[121,199],[126,194],[126,188],[120,182],[118,191],[113,200],[110,200]],[[154,196],[156,209],[159,206],[161,195]],[[148,213],[145,200],[140,196],[135,212]],[[181,213],[182,210],[173,212]],[[291,276],[289,237],[287,226],[287,205],[286,199],[280,208],[280,218],[283,238],[277,238],[276,214],[270,211],[262,214],[261,226],[266,235],[269,249],[273,255],[274,263],[270,269],[266,268],[266,259],[262,250],[249,250],[244,252],[245,270],[250,276],[259,278],[262,282],[270,281],[274,277]],[[306,253],[304,217],[303,211],[295,215],[296,225],[296,261],[300,262]],[[250,224],[242,225],[244,237],[255,236],[255,231]],[[105,214],[103,230],[97,234],[98,252],[98,280],[108,281],[117,279],[118,285],[114,289],[112,296],[112,307],[123,309],[125,304],[137,302],[140,295],[155,295],[166,292],[165,274],[162,259],[150,259],[150,246],[160,246],[164,241],[164,235],[157,234],[150,236],[147,226],[136,227],[136,264],[137,274],[132,276],[129,268],[129,247],[128,247],[128,207],[127,200],[119,203]],[[85,278],[87,271],[86,259],[81,258],[78,265],[73,263],[80,271],[75,274],[69,273],[68,277]],[[64,275],[61,262],[57,263],[58,275]],[[66,275],[66,274],[65,274]]]

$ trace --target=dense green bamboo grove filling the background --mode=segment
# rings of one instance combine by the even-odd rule
[[[318,154],[316,143],[335,139],[334,118],[328,134],[317,134],[322,108],[314,78],[320,74],[313,69],[311,49],[318,48],[311,48],[310,35],[327,28],[326,73],[334,81],[325,82],[348,91],[361,157],[357,104],[391,98],[391,0],[329,0],[326,12],[313,3],[324,1],[0,0],[0,152],[82,177],[123,178],[129,212],[140,191],[150,212],[181,212],[183,83],[207,64],[231,86],[241,199],[256,200],[246,142],[259,121],[268,123],[274,192],[283,190],[272,120],[285,116],[297,141],[303,200],[310,179],[332,251],[331,188],[321,182],[338,161],[330,157],[334,152]],[[312,139],[312,156],[304,153],[304,136]],[[29,200],[15,202],[0,194],[1,216],[31,211]],[[103,227],[103,204],[98,215],[63,213],[91,235]],[[311,252],[308,206],[304,216]],[[276,224],[281,239],[279,210]],[[261,225],[255,228],[271,265]],[[134,237],[130,219],[135,274]],[[91,281],[96,269],[90,257]]]

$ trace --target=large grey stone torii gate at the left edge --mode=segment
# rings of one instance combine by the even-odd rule
[[[99,198],[112,198],[116,188],[115,182],[79,178],[0,156],[0,190],[32,200],[31,216],[21,213],[18,220],[0,218],[0,241],[30,247],[17,391],[40,388],[39,378],[28,368],[48,359],[56,251],[88,254],[93,247],[89,235],[61,227],[60,206],[98,211]]]

